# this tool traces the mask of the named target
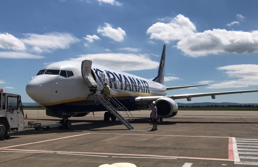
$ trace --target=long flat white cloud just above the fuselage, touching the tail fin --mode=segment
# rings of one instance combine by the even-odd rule
[[[70,60],[91,60],[119,71],[138,71],[150,70],[159,66],[159,62],[152,61],[149,56],[144,54],[86,54],[80,55],[78,58],[70,58]]]

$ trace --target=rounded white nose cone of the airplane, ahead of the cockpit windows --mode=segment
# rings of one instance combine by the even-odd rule
[[[52,90],[51,80],[44,75],[37,75],[26,86],[26,92],[39,104],[47,103]]]

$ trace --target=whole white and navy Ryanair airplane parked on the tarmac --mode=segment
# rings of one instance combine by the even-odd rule
[[[153,80],[117,71],[105,66],[84,61],[55,62],[42,68],[26,86],[26,92],[32,100],[46,108],[46,115],[62,118],[62,127],[70,129],[70,117],[83,117],[90,112],[106,111],[103,105],[87,99],[96,94],[107,82],[111,88],[112,98],[116,98],[128,111],[148,109],[153,101],[157,106],[160,118],[177,115],[178,106],[175,100],[192,97],[258,92],[258,90],[197,93],[184,95],[167,95],[168,90],[191,88],[204,85],[166,87],[164,85],[166,45],[163,47],[158,74]],[[106,112],[104,120],[111,114]],[[111,117],[112,118],[112,117]],[[112,119],[113,120],[113,119]],[[115,120],[115,119],[114,119]]]

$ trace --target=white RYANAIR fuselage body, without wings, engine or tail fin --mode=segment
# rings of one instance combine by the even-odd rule
[[[52,70],[55,74],[46,74],[47,70]],[[138,96],[167,95],[163,84],[148,79],[98,64],[92,64],[91,70],[100,88],[103,88],[103,83],[107,82],[113,96],[120,99],[122,103],[128,102],[128,105],[133,105],[134,99]],[[56,62],[45,66],[40,71],[42,74],[36,75],[26,86],[27,94],[39,105],[52,110],[58,110],[61,107],[71,112],[83,112],[83,106],[92,105],[86,101],[87,96],[92,92],[83,80],[80,61]],[[70,76],[61,75],[65,73],[67,75],[69,73]],[[145,106],[135,106],[131,110],[142,107]],[[85,112],[95,110],[94,107],[85,108]]]

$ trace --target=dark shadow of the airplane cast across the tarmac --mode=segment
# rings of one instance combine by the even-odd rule
[[[182,118],[181,118],[182,119]],[[193,118],[184,118],[184,119],[193,119]],[[37,119],[30,119],[30,120],[37,120]],[[57,121],[59,122],[60,119],[38,119],[39,121]],[[71,123],[83,123],[80,125],[72,125],[71,129],[61,129],[58,130],[58,127],[51,127],[50,131],[36,131],[35,129],[32,130],[26,130],[21,132],[15,132],[9,134],[11,136],[20,136],[20,135],[35,135],[35,131],[38,133],[71,133],[71,132],[81,132],[81,131],[110,131],[110,130],[127,130],[126,127],[124,129],[98,129],[98,128],[104,128],[104,127],[111,127],[116,125],[121,125],[122,123],[120,121],[103,121],[103,120],[70,120]],[[134,121],[130,122],[133,124],[149,124],[151,126],[150,118],[138,118]],[[163,121],[161,125],[175,125],[175,124],[258,124],[258,122],[189,122],[189,121]]]

